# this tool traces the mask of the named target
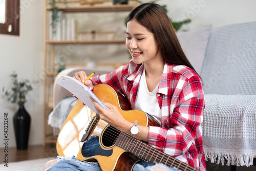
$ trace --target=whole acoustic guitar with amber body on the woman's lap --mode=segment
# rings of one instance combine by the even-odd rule
[[[104,102],[116,105],[121,115],[130,122],[145,126],[159,126],[153,117],[140,110],[131,110],[127,99],[106,85],[94,86],[94,94]],[[81,161],[97,161],[103,171],[132,170],[140,160],[163,163],[179,170],[198,170],[169,156],[147,143],[122,133],[100,120],[80,100],[77,101],[62,126],[57,139],[59,156],[75,156]]]

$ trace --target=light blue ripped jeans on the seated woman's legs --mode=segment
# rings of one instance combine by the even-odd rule
[[[47,168],[45,171],[59,170],[81,170],[81,171],[102,171],[96,162],[81,162],[74,156],[71,158],[57,157],[58,162]],[[139,161],[133,168],[133,171],[151,171],[154,167],[161,166],[168,171],[175,171],[176,168],[170,168],[163,164],[153,164],[151,162]]]

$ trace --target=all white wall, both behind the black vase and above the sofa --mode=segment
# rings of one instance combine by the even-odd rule
[[[32,119],[29,144],[42,144],[43,88],[41,76],[44,65],[44,1],[21,0],[20,3],[22,9],[20,36],[0,34],[0,90],[3,86],[10,87],[9,74],[12,71],[16,71],[19,78],[40,81],[40,86],[34,85],[33,92],[29,93],[25,107]],[[167,5],[168,15],[174,21],[186,17],[191,18],[192,22],[184,26],[184,30],[194,30],[208,24],[220,27],[256,20],[256,1],[253,0],[161,0],[159,4]],[[4,139],[3,118],[4,113],[7,112],[9,147],[15,146],[12,117],[17,109],[18,106],[8,102],[1,91],[0,138]],[[0,143],[0,147],[4,147],[4,144]]]

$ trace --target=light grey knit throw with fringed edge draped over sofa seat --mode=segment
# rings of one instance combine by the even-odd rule
[[[206,160],[250,166],[256,156],[256,95],[205,94],[203,147]]]

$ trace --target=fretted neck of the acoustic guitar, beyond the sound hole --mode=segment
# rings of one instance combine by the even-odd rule
[[[147,143],[125,133],[120,133],[115,145],[126,151],[152,163],[163,163],[168,167],[176,167],[183,171],[198,170],[188,164],[185,164],[172,156],[169,156]],[[199,170],[198,170],[199,171]]]

